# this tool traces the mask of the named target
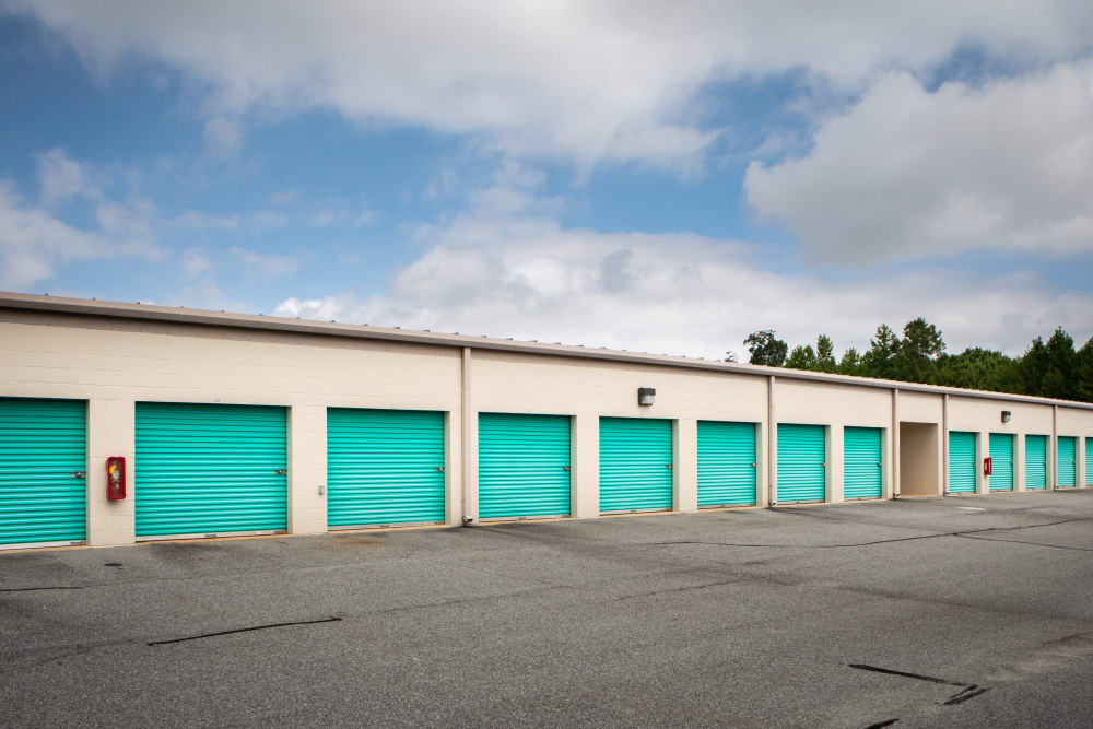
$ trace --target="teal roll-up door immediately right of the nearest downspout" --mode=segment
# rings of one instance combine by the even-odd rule
[[[569,515],[569,419],[479,414],[479,518]]]

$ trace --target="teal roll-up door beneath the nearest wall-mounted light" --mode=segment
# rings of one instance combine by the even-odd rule
[[[600,512],[672,507],[672,422],[600,419]]]

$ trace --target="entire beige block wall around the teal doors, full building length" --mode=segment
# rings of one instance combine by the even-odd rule
[[[776,448],[772,405],[774,423],[825,426],[828,501],[843,499],[843,428],[847,426],[883,428],[885,496],[896,483],[897,431],[889,388],[779,376],[771,403],[765,374],[493,350],[474,350],[466,358],[461,346],[33,311],[0,311],[0,396],[87,401],[87,520],[93,545],[133,541],[133,414],[140,401],[286,408],[289,524],[294,533],[326,530],[327,496],[320,492],[327,485],[329,407],[444,412],[447,524],[460,524],[465,515],[477,516],[479,412],[571,418],[572,515],[577,518],[599,515],[601,416],[672,421],[673,506],[681,512],[697,508],[696,440],[702,420],[757,424],[756,502],[768,504],[774,478],[771,448]],[[657,389],[653,407],[637,404],[638,387]],[[901,390],[897,400],[900,422],[938,426],[940,484],[945,468],[940,432],[943,398]],[[964,396],[952,396],[950,401],[949,427],[977,433],[980,458],[989,433],[1018,436],[1014,468],[1016,483],[1023,487],[1023,467],[1019,466],[1023,465],[1023,436],[1050,435],[1053,407]],[[1001,423],[1001,410],[1013,413],[1010,423]],[[1093,411],[1059,408],[1057,427],[1061,435],[1079,437],[1079,483],[1084,484],[1084,438],[1093,435]],[[124,502],[105,497],[108,456],[127,458],[129,493]],[[904,473],[913,473],[914,468],[914,463],[901,463]],[[986,491],[989,481],[980,475],[980,490]]]

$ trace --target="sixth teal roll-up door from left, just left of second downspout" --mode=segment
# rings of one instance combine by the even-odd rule
[[[755,423],[698,421],[698,506],[755,504]]]

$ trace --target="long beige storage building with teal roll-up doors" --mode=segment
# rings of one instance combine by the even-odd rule
[[[1047,491],[1091,461],[1090,403],[0,294],[0,548]]]

